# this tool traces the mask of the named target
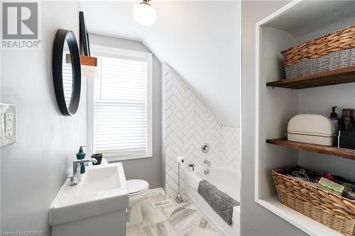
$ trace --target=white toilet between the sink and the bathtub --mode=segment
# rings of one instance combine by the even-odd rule
[[[126,181],[129,191],[129,208],[127,212],[127,224],[135,225],[143,220],[141,201],[149,191],[149,184],[142,179],[131,179]]]

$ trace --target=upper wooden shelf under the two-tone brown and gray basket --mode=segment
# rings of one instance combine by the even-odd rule
[[[266,86],[288,89],[307,89],[334,84],[346,84],[355,82],[355,67],[334,69],[329,72],[309,74],[302,77],[281,79],[266,83]]]

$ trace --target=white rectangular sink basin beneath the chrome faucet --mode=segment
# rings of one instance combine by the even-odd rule
[[[129,192],[121,163],[87,167],[77,186],[65,181],[50,206],[50,225],[124,210]]]

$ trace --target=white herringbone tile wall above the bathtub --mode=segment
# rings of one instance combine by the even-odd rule
[[[219,120],[194,91],[168,64],[164,64],[165,76],[165,191],[170,197],[178,192],[178,163],[176,157],[185,157],[180,172],[194,163],[203,167],[204,159],[214,164],[226,164],[240,169],[239,128],[222,126]],[[207,142],[208,154],[201,151]],[[183,192],[183,189],[182,189]]]

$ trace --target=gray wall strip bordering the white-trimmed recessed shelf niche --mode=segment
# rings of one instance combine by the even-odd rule
[[[287,1],[242,1],[241,235],[305,235],[254,201],[255,24]]]

